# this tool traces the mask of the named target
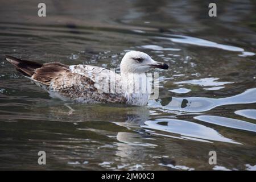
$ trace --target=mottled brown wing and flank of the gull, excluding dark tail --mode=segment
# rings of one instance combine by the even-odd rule
[[[48,90],[61,96],[80,102],[126,103],[121,94],[99,93],[95,82],[89,77],[72,72],[67,65],[47,63],[35,69],[31,77],[48,86]]]

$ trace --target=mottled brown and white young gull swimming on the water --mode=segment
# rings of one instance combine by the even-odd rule
[[[24,77],[46,90],[51,97],[88,104],[145,106],[151,91],[146,89],[146,92],[141,92],[141,84],[145,81],[136,78],[146,78],[148,84],[145,72],[150,68],[168,69],[167,64],[159,63],[139,51],[130,51],[123,56],[120,74],[93,65],[41,64],[13,56],[6,56],[6,60]]]

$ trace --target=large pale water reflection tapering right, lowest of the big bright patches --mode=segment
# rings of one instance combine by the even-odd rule
[[[222,136],[210,127],[180,119],[163,118],[156,119],[155,121],[148,120],[141,127],[144,129],[160,130],[171,134],[180,134],[181,138],[189,140],[203,139],[200,140],[200,142],[204,142],[204,140],[205,142],[210,142],[208,140],[212,140],[241,144]]]

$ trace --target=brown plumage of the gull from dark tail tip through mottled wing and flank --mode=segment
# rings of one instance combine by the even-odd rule
[[[126,98],[118,93],[99,92],[89,76],[72,72],[68,65],[61,63],[37,64],[11,56],[6,59],[26,77],[46,89],[52,96],[79,102],[126,103]],[[13,61],[14,60],[14,61]],[[95,78],[95,76],[92,76]]]

